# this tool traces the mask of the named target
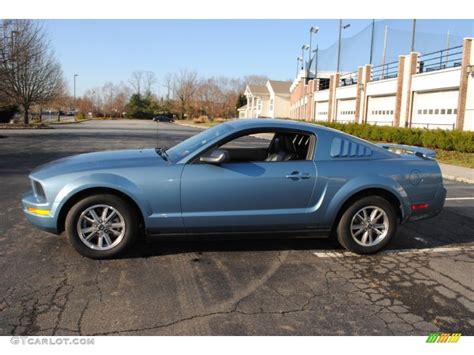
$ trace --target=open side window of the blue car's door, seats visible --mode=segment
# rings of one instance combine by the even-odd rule
[[[236,137],[218,146],[226,150],[229,163],[310,160],[314,146],[311,134],[261,132]]]

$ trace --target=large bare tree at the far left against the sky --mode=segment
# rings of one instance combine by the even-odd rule
[[[62,70],[39,22],[3,20],[0,25],[0,92],[23,108],[54,100],[63,88]]]

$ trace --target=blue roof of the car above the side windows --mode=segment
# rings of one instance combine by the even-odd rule
[[[276,118],[250,118],[250,119],[236,119],[226,123],[227,125],[235,129],[248,129],[248,128],[288,128],[288,129],[301,129],[307,131],[325,130],[335,132],[331,128],[320,126],[314,123],[282,120]],[[336,131],[338,132],[338,131]]]

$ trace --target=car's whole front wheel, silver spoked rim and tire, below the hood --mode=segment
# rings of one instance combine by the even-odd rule
[[[101,194],[77,202],[66,216],[69,242],[81,255],[102,259],[117,256],[135,241],[136,211],[116,195]]]

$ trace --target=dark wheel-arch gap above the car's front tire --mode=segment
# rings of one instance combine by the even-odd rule
[[[111,194],[111,195],[119,196],[122,199],[124,199],[130,206],[133,207],[133,209],[137,213],[137,216],[139,218],[140,229],[141,230],[144,229],[145,219],[143,216],[143,211],[141,210],[138,203],[132,197],[130,197],[128,194],[124,193],[123,191],[120,191],[114,188],[97,186],[97,187],[89,187],[89,188],[85,188],[83,190],[77,191],[76,193],[71,195],[66,200],[66,202],[64,202],[58,214],[58,219],[57,219],[58,232],[61,233],[64,231],[66,216],[72,206],[74,206],[77,202],[79,202],[80,200],[86,197],[97,195],[97,194]]]

